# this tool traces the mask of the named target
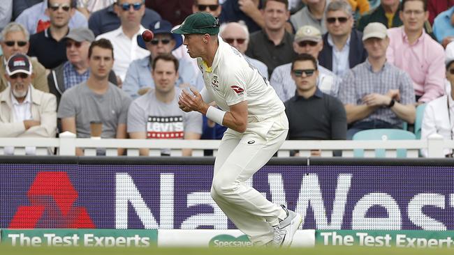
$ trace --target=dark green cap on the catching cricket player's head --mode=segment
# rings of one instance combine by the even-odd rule
[[[219,33],[219,19],[210,13],[193,13],[186,17],[182,25],[173,29],[172,33],[182,35],[189,33],[201,33],[215,35]]]

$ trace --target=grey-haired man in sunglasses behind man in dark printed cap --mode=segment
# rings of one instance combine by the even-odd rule
[[[3,55],[0,56],[0,92],[8,87],[8,80],[5,77],[6,61],[14,54],[27,54],[29,50],[29,32],[19,23],[11,22],[1,31],[1,49]],[[30,59],[34,75],[31,84],[39,91],[49,92],[47,79],[45,79],[45,68],[36,58]]]

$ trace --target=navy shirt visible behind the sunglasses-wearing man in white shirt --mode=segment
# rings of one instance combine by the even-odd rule
[[[114,4],[91,13],[88,20],[88,27],[93,31],[94,36],[99,36],[101,33],[107,33],[119,28],[121,21],[114,12]],[[161,15],[152,9],[145,8],[145,15],[143,15],[142,21],[140,22],[142,26],[145,29],[149,29],[149,24],[152,24],[156,20],[161,20]]]

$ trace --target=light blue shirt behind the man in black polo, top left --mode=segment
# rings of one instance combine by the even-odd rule
[[[49,20],[49,16],[45,15],[45,9],[47,9],[47,0],[44,0],[42,3],[37,3],[34,6],[31,6],[28,9],[25,9],[15,22],[20,23],[25,26],[30,35],[36,33],[36,28],[38,26],[38,21],[43,22]],[[88,22],[87,18],[80,13],[80,11],[75,10],[73,17],[69,20],[68,24],[70,29],[75,29],[78,27],[87,27]]]

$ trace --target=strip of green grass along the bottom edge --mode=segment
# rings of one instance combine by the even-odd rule
[[[86,248],[86,247],[10,247],[0,246],[0,254],[156,254],[156,255],[444,255],[454,254],[453,249],[407,249],[407,248],[365,248],[365,247],[317,247],[299,249],[272,248]]]

